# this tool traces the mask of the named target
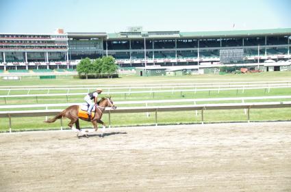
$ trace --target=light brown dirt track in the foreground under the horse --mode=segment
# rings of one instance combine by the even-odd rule
[[[291,191],[291,122],[0,134],[0,191]]]

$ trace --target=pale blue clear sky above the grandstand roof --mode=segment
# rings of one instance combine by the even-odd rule
[[[291,28],[291,0],[0,0],[0,33]]]

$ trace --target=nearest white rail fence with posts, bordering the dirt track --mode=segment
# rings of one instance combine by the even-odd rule
[[[112,113],[155,113],[155,125],[157,126],[157,112],[165,111],[201,111],[201,123],[204,123],[203,112],[205,110],[221,109],[247,109],[247,121],[250,122],[250,109],[270,109],[291,107],[291,102],[251,102],[251,103],[227,103],[227,104],[203,104],[203,105],[181,105],[181,106],[160,106],[160,107],[118,107],[116,110],[105,109],[109,115],[109,126],[111,126],[110,114]],[[57,115],[61,109],[31,110],[31,111],[0,111],[0,118],[9,118],[9,131],[12,131],[12,118],[19,117],[42,117]],[[63,128],[62,119],[61,129]]]

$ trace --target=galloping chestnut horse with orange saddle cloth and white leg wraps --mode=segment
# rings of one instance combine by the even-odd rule
[[[103,134],[105,133],[106,125],[103,121],[101,121],[101,118],[103,115],[103,111],[105,110],[105,107],[111,107],[112,109],[116,109],[116,106],[113,104],[111,100],[111,96],[105,97],[105,98],[103,97],[101,98],[101,100],[99,100],[99,102],[97,102],[97,105],[95,105],[95,111],[94,113],[92,113],[90,118],[87,115],[87,111],[83,111],[83,112],[81,111],[80,105],[71,105],[70,107],[67,107],[58,115],[56,115],[54,118],[46,120],[45,122],[52,123],[60,118],[68,118],[69,120],[71,120],[71,122],[68,123],[68,126],[71,127],[72,130],[74,130],[73,124],[75,124],[76,126],[75,131],[77,131],[77,137],[79,137],[79,133],[81,133],[81,129],[79,126],[79,119],[87,121],[87,122],[92,122],[94,126],[94,131],[98,130],[98,123],[99,123],[103,125],[103,132],[101,134],[101,136],[103,137]],[[85,136],[88,137],[86,133],[85,133]]]

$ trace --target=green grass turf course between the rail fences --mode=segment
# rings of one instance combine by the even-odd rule
[[[262,81],[291,81],[291,72],[262,72],[253,74],[203,74],[196,76],[185,77],[135,77],[134,75],[123,75],[118,79],[75,79],[72,76],[58,76],[57,79],[38,79],[38,77],[23,77],[20,81],[0,80],[0,86],[15,86],[15,85],[147,85],[147,84],[166,84],[166,83],[218,83],[218,82],[262,82]],[[107,90],[104,90],[107,92]],[[112,90],[112,92],[123,92],[128,90]],[[72,90],[70,93],[84,92],[84,90]],[[26,94],[27,91],[12,91],[10,94]],[[45,90],[35,90],[29,94],[46,94]],[[66,90],[51,90],[50,94],[66,93]],[[6,95],[7,91],[0,91],[0,95]],[[211,92],[168,92],[156,94],[111,94],[114,101],[130,101],[130,100],[165,100],[165,99],[181,99],[181,98],[225,98],[225,97],[247,97],[247,96],[284,96],[290,95],[291,88],[276,88],[266,92],[265,89],[257,90],[227,90]],[[8,98],[7,100],[0,100],[0,105],[15,105],[13,109],[19,110],[17,105],[23,104],[46,104],[46,103],[66,103],[66,102],[83,102],[84,96],[42,96],[27,97],[27,98]],[[266,101],[283,101],[283,100],[262,100]],[[223,101],[224,103],[226,101]],[[241,102],[241,101],[227,101],[227,102]],[[247,102],[260,102],[260,100],[248,100]],[[197,102],[202,104],[205,102]],[[210,103],[210,102],[207,102]],[[211,103],[218,103],[211,102]],[[193,103],[159,103],[149,104],[148,106],[157,105],[190,105]],[[120,105],[119,107],[134,107],[142,105]],[[34,108],[36,109],[36,108]],[[42,108],[43,109],[43,108]],[[50,109],[61,109],[50,108]],[[21,109],[24,110],[24,109]],[[1,110],[3,111],[3,109]],[[5,110],[7,111],[7,110]],[[251,121],[275,121],[275,120],[290,120],[290,109],[252,109]],[[104,122],[108,122],[107,115],[103,116]],[[44,118],[15,118],[12,119],[12,130],[31,130],[31,129],[58,129],[60,122],[53,124],[44,124]],[[223,111],[204,111],[205,122],[246,122],[247,116],[244,110],[223,110]],[[112,126],[136,126],[154,124],[155,115],[150,113],[149,118],[145,113],[127,113],[127,114],[112,114]],[[67,124],[68,120],[64,120]],[[157,118],[158,124],[199,124],[201,123],[200,111],[196,115],[195,111],[179,111],[179,112],[160,112]],[[8,118],[0,119],[0,131],[8,131]],[[81,121],[81,127],[91,127],[87,122]]]

